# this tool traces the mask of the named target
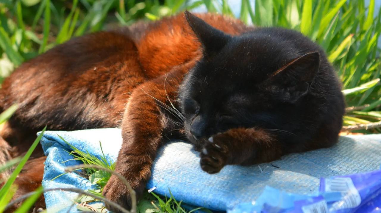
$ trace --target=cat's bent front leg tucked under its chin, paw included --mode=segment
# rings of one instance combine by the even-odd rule
[[[225,165],[270,162],[282,156],[282,146],[274,136],[259,128],[235,128],[214,135],[201,150],[201,168],[218,173]]]

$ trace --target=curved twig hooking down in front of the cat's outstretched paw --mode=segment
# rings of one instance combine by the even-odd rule
[[[128,191],[130,192],[131,196],[131,213],[136,213],[136,192],[132,189],[130,183],[126,180],[125,177],[117,173],[116,171],[110,170],[108,168],[101,167],[99,165],[93,165],[93,164],[80,164],[80,165],[75,165],[72,167],[66,167],[65,171],[67,172],[72,172],[74,170],[77,170],[79,168],[96,168],[99,170],[107,171],[109,173],[112,173],[113,175],[117,176],[126,186]]]

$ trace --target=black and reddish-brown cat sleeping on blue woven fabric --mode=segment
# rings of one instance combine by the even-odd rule
[[[3,134],[21,141],[11,146],[45,125],[121,127],[116,171],[138,197],[168,138],[186,136],[213,174],[329,147],[344,114],[339,80],[318,45],[293,30],[216,14],[185,12],[74,38],[24,63],[2,86],[2,109],[20,104]],[[130,208],[116,176],[103,194]]]

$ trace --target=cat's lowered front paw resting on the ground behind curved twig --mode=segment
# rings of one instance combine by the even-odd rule
[[[138,200],[139,197],[141,197],[144,187],[144,184],[134,184],[130,182],[131,187],[136,192],[136,199]],[[108,200],[117,203],[121,207],[125,208],[126,210],[131,209],[131,196],[130,192],[128,191],[125,183],[123,183],[120,179],[118,179],[117,176],[112,175],[109,179],[108,183],[103,189],[103,196],[106,197]],[[120,209],[118,209],[115,206],[110,205],[109,203],[106,203],[106,208],[113,212],[121,212]]]

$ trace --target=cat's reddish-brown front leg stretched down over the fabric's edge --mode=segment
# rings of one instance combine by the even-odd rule
[[[115,171],[128,180],[138,198],[151,176],[151,166],[163,141],[163,135],[167,131],[181,128],[182,115],[172,108],[168,100],[172,100],[176,106],[174,99],[177,96],[178,86],[184,73],[193,66],[194,62],[189,62],[168,74],[142,84],[133,91],[128,100],[122,121],[123,144]],[[131,208],[129,191],[117,176],[111,176],[103,194],[107,199]],[[107,208],[117,211],[110,206]]]

